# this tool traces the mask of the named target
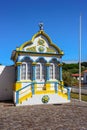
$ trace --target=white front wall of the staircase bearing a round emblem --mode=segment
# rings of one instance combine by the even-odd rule
[[[44,98],[48,98],[48,102],[44,103]],[[70,100],[67,100],[64,97],[59,96],[58,94],[39,94],[33,95],[31,98],[28,98],[26,101],[16,104],[16,106],[21,105],[37,105],[37,104],[62,104],[68,103]]]

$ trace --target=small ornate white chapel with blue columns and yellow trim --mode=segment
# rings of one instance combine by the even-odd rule
[[[70,91],[62,80],[63,51],[40,30],[30,41],[12,52],[15,64],[15,105],[58,104],[70,102]]]

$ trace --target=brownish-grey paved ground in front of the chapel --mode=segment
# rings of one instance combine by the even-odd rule
[[[87,103],[15,107],[1,102],[0,130],[87,130]]]

